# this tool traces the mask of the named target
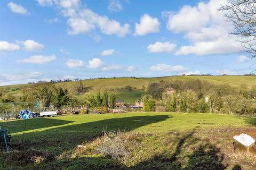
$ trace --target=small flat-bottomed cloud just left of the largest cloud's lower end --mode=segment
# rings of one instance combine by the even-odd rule
[[[155,44],[150,44],[148,46],[148,51],[150,53],[171,53],[176,48],[175,44],[170,42],[161,43],[157,41]]]

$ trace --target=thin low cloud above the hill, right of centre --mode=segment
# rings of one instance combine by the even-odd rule
[[[188,70],[186,67],[182,65],[167,65],[167,64],[156,64],[150,67],[152,71],[162,71],[162,72],[184,72]]]

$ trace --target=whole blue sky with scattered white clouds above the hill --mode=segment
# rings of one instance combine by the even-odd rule
[[[245,74],[225,0],[0,1],[0,85],[51,79]]]

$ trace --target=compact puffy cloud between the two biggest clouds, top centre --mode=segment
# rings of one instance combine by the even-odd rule
[[[148,14],[141,16],[140,23],[135,23],[134,36],[144,36],[148,33],[159,32],[160,22]]]

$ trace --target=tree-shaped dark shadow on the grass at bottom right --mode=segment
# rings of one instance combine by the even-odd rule
[[[226,169],[227,165],[222,163],[224,155],[221,154],[220,149],[209,142],[202,143],[201,139],[193,137],[194,133],[195,129],[183,135],[170,157],[166,156],[165,153],[159,154],[128,169]],[[200,144],[198,145],[198,143]],[[197,147],[192,154],[188,156],[183,155],[182,149],[190,145]],[[188,162],[184,165],[180,159],[186,157],[188,158]]]

